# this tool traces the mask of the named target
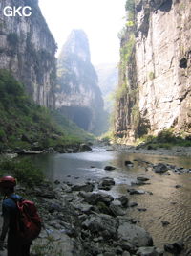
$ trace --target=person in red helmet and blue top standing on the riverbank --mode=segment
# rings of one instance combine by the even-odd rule
[[[22,244],[17,237],[17,205],[16,201],[22,199],[14,193],[16,179],[12,176],[0,178],[0,193],[4,196],[2,203],[3,226],[0,235],[0,249],[4,249],[4,241],[8,233],[8,256],[30,256],[31,244]]]

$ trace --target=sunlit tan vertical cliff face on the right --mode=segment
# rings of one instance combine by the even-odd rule
[[[135,36],[125,68],[120,65],[119,88],[128,85],[117,101],[116,132],[132,138],[164,128],[190,133],[190,1],[133,2],[135,17],[121,39],[122,53]]]

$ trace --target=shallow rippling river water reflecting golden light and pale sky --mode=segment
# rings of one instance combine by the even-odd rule
[[[150,184],[138,186],[138,189],[152,192],[153,195],[128,195],[130,201],[138,202],[137,207],[128,209],[128,216],[138,220],[138,225],[150,232],[156,246],[163,247],[163,244],[183,240],[186,249],[182,255],[191,255],[191,174],[179,175],[171,171],[171,175],[156,174],[152,170],[147,171],[145,163],[142,162],[142,160],[151,163],[163,162],[177,167],[191,168],[190,158],[107,151],[105,148],[95,148],[90,152],[43,154],[31,157],[51,181],[59,179],[80,183],[88,179],[113,177],[116,186],[107,193],[114,197],[128,195],[127,188],[137,176],[150,178]],[[133,161],[134,166],[125,166],[125,160]],[[115,166],[117,169],[105,171],[106,165]],[[176,185],[181,187],[176,188]],[[146,211],[138,211],[138,208],[146,208]],[[163,226],[161,221],[168,221],[170,224]]]

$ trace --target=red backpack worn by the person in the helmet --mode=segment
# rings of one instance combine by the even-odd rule
[[[42,226],[42,221],[37,213],[36,206],[34,202],[30,200],[11,199],[16,203],[18,209],[16,235],[22,244],[30,244],[32,240],[38,237]]]

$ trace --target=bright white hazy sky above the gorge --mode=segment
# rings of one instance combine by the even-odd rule
[[[73,29],[89,38],[93,64],[118,62],[118,32],[125,23],[126,0],[39,0],[39,6],[58,44],[58,53]]]

